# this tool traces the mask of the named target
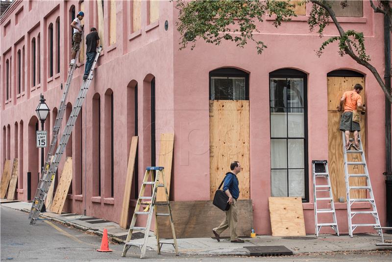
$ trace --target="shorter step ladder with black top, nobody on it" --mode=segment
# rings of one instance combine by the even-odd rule
[[[315,196],[315,226],[316,226],[316,236],[319,236],[319,232],[321,227],[331,227],[336,235],[339,236],[338,222],[336,220],[336,212],[335,212],[335,204],[332,196],[331,189],[331,180],[329,178],[328,171],[328,162],[327,160],[312,160],[312,169],[313,169],[313,192]],[[318,178],[325,178],[325,182],[323,184],[317,184]],[[328,197],[318,197],[317,192],[328,192]],[[319,194],[320,195],[320,194]],[[328,202],[331,205],[331,208],[318,208],[318,203],[321,202],[323,206],[327,205]],[[319,214],[320,213],[330,213],[332,214],[333,222],[331,223],[319,223]]]

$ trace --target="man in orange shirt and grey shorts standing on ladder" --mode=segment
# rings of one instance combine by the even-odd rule
[[[362,98],[359,95],[362,89],[363,87],[361,84],[356,84],[354,86],[354,90],[345,91],[342,98],[340,99],[340,105],[338,106],[338,110],[342,111],[344,104],[344,112],[341,117],[339,129],[344,131],[346,136],[346,150],[349,150],[351,147],[355,150],[360,150],[358,143],[358,132],[361,131],[361,127],[359,123],[352,121],[352,111],[356,110],[357,108],[363,111],[366,110],[366,107],[362,105]],[[354,144],[349,141],[350,132],[354,132]]]

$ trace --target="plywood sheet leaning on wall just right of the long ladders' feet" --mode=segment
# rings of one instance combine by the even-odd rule
[[[50,211],[61,214],[63,210],[65,199],[67,197],[68,189],[72,181],[72,157],[67,157],[65,160],[63,172],[61,173],[60,181],[57,185],[56,194],[54,195],[53,203]]]

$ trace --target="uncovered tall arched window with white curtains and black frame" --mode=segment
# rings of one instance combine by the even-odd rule
[[[306,89],[299,70],[270,73],[271,196],[309,201]]]

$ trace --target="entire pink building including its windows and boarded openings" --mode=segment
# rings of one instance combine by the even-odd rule
[[[368,1],[358,2],[342,11],[339,21],[344,29],[364,32],[371,63],[383,74],[383,16],[374,14]],[[313,234],[311,161],[328,159],[339,230],[346,233],[336,106],[341,92],[360,82],[368,109],[361,133],[385,225],[384,94],[368,70],[338,54],[337,45],[316,56],[322,39],[309,32],[310,8],[311,3],[299,8],[298,17],[278,29],[266,18],[255,38],[268,48],[257,55],[252,43],[241,49],[198,41],[195,50],[179,51],[177,10],[169,1],[14,1],[0,19],[0,124],[1,170],[4,159],[19,158],[17,198],[34,197],[41,159],[34,110],[42,93],[51,109],[45,122],[50,137],[71,57],[70,23],[83,10],[85,28],[98,28],[103,52],[59,166],[60,175],[65,158],[73,157],[64,210],[119,222],[131,137],[139,136],[134,199],[146,166],[157,163],[160,134],[174,133],[172,200],[210,200],[228,163],[239,160],[240,197],[253,201],[256,233],[271,234],[270,196],[299,196],[306,233]],[[337,30],[330,25],[325,34]],[[82,82],[82,52],[63,128]]]

